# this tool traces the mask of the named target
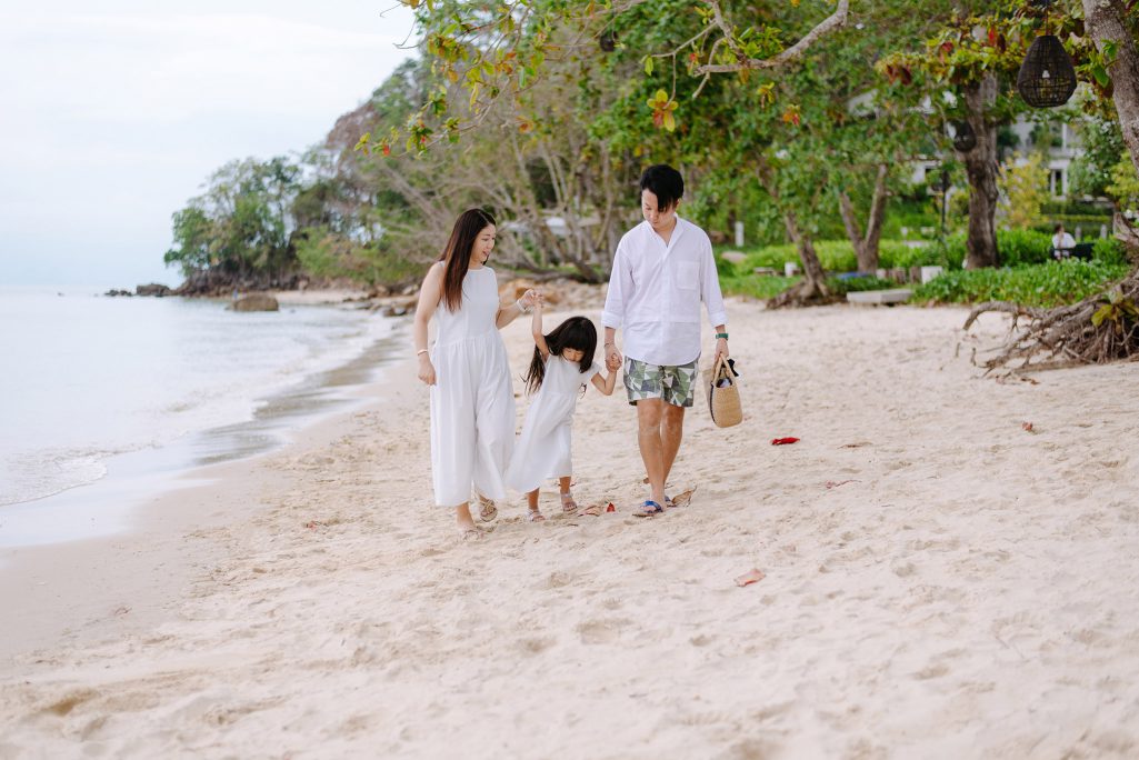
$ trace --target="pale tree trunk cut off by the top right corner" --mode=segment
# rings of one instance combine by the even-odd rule
[[[1083,0],[1084,25],[1096,47],[1103,50],[1108,41],[1116,46],[1115,62],[1107,67],[1112,99],[1120,116],[1123,144],[1139,171],[1139,51],[1123,25],[1125,9],[1118,0]]]

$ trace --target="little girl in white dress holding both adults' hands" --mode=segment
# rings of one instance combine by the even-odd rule
[[[593,361],[597,351],[597,329],[584,317],[571,317],[549,335],[542,334],[542,299],[534,304],[534,358],[526,374],[526,393],[533,402],[522,425],[522,435],[515,447],[507,484],[526,493],[531,522],[546,520],[538,509],[538,487],[550,477],[559,479],[562,512],[573,515],[577,505],[570,493],[573,465],[570,461],[570,434],[577,397],[592,381],[605,395],[613,393],[617,375],[614,370],[601,379],[601,367]],[[598,507],[585,512],[597,516]]]

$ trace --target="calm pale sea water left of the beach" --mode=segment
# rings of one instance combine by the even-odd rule
[[[0,289],[0,506],[91,483],[115,456],[190,434],[218,432],[187,465],[248,449],[243,424],[289,393],[303,406],[393,328],[336,307],[235,313],[96,293]]]

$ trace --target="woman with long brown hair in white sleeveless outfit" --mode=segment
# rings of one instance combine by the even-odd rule
[[[431,463],[435,504],[453,507],[459,537],[482,538],[470,516],[470,490],[480,517],[498,514],[491,499],[506,497],[503,474],[514,446],[514,389],[498,330],[533,304],[534,292],[502,308],[494,270],[494,219],[469,209],[451,230],[443,255],[419,291],[415,342],[419,379],[431,386]],[[427,324],[437,335],[427,348]]]

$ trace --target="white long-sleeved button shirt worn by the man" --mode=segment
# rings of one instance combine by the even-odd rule
[[[601,324],[622,329],[630,359],[687,365],[700,356],[700,301],[713,327],[728,324],[708,236],[677,216],[665,245],[641,222],[617,244]]]

